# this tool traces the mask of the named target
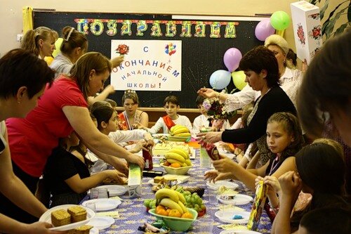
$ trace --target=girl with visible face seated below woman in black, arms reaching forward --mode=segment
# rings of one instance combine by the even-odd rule
[[[245,170],[227,157],[213,161],[219,171],[208,171],[205,178],[218,181],[224,178],[235,178],[242,181],[248,188],[255,190],[257,176],[270,176],[280,167],[287,157],[293,156],[302,148],[304,140],[298,119],[288,112],[274,113],[267,121],[266,141],[274,158],[258,169]]]

